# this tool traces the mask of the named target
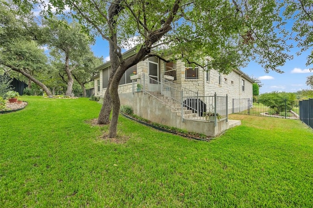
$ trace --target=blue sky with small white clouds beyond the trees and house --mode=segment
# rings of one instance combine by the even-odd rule
[[[103,56],[106,61],[109,60],[109,44],[107,41],[97,38],[91,48],[96,56]],[[260,88],[260,94],[273,91],[294,93],[302,89],[310,89],[305,83],[306,78],[313,75],[313,71],[310,72],[308,70],[309,67],[305,65],[309,52],[296,56],[297,51],[298,49],[293,49],[291,51],[291,54],[294,56],[293,59],[287,61],[280,68],[285,72],[283,74],[273,71],[265,73],[261,65],[254,62],[250,62],[246,68],[240,70],[249,76],[254,76],[261,80],[263,86]]]

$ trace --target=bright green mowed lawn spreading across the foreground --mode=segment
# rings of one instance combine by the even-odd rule
[[[24,96],[0,114],[0,207],[313,206],[313,130],[299,120],[231,115],[210,142],[119,118],[127,142],[91,126],[87,98]]]

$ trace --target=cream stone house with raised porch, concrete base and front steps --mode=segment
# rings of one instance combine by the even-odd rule
[[[134,55],[134,50],[125,52],[123,57]],[[110,61],[97,67],[95,96],[105,94],[110,68]],[[180,60],[166,63],[157,57],[149,57],[125,72],[118,92],[121,105],[131,105],[134,113],[141,117],[216,136],[240,124],[240,121],[229,121],[227,115],[234,111],[233,99],[252,100],[252,83],[251,78],[237,69],[223,75],[216,70],[185,66]],[[207,111],[221,116],[208,122],[204,113]]]

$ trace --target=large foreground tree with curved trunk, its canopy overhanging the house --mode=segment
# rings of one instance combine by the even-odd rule
[[[275,1],[51,0],[50,3],[56,7],[50,14],[63,13],[69,7],[73,11],[70,14],[79,19],[86,31],[109,42],[112,72],[107,92],[113,109],[109,137],[116,136],[119,80],[141,60],[168,56],[226,74],[250,60],[266,71],[282,73],[279,66],[291,58],[285,53],[290,47],[285,39],[288,34],[282,29],[281,7]],[[134,36],[138,40],[136,54],[123,59],[123,42]],[[103,105],[110,106],[105,102]]]

